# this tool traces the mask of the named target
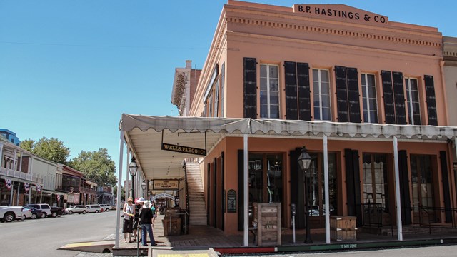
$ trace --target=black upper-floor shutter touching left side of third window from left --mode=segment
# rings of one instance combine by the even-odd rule
[[[361,122],[360,115],[360,95],[358,93],[358,72],[356,68],[346,68],[348,81],[348,110],[349,121],[354,123]]]

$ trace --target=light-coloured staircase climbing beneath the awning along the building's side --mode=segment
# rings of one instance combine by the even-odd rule
[[[206,203],[199,163],[186,162],[189,225],[206,225]]]

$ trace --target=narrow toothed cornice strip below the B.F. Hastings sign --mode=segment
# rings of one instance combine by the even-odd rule
[[[390,41],[393,43],[400,44],[411,44],[416,46],[431,46],[431,47],[441,47],[441,42],[438,41],[428,41],[423,39],[408,39],[403,36],[387,36],[375,33],[366,33],[359,31],[351,31],[349,29],[328,29],[321,26],[312,26],[312,25],[301,25],[293,24],[292,22],[286,21],[268,21],[262,19],[253,19],[245,17],[227,17],[226,22],[234,24],[244,24],[252,26],[266,26],[274,29],[294,29],[298,31],[311,32],[311,33],[320,33],[328,34],[334,36],[347,36],[356,39],[374,39],[380,41]],[[352,24],[351,24],[352,25]],[[404,32],[403,32],[404,33]]]

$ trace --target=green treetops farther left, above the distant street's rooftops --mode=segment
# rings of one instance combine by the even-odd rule
[[[64,146],[64,142],[59,141],[57,138],[48,139],[43,137],[38,142],[26,139],[21,142],[20,146],[26,151],[56,163],[66,164],[66,159],[70,156],[70,149]]]

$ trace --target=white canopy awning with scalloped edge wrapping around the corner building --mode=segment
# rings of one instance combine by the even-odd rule
[[[413,126],[289,121],[280,119],[228,119],[201,117],[142,116],[122,114],[119,129],[144,171],[146,178],[181,178],[184,158],[199,156],[161,150],[161,143],[211,148],[227,134],[258,136],[311,136],[321,138],[378,138],[446,141],[457,137],[453,126]]]

